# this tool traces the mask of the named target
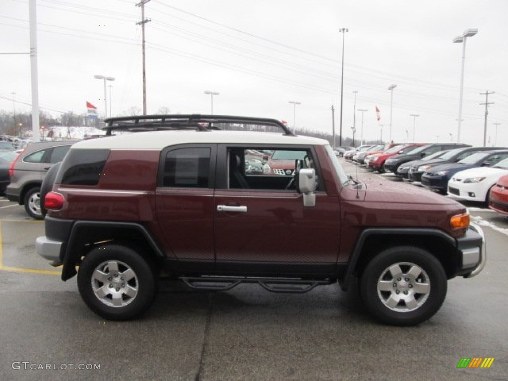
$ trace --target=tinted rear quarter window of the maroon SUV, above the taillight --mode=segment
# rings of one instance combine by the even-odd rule
[[[109,152],[109,149],[71,149],[61,164],[55,183],[99,184]]]

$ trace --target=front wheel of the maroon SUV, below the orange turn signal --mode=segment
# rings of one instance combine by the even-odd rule
[[[446,273],[434,256],[418,247],[399,246],[382,251],[367,264],[360,293],[379,321],[413,326],[439,310],[447,286]]]

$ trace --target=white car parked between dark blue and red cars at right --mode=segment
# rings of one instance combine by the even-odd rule
[[[499,177],[508,175],[508,158],[492,167],[457,172],[448,182],[448,194],[469,201],[489,201],[489,190]]]

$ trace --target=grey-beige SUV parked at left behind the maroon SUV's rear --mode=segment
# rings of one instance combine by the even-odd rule
[[[9,169],[11,183],[6,197],[24,205],[26,213],[35,219],[43,219],[41,212],[41,184],[53,164],[61,162],[76,141],[29,143]]]

